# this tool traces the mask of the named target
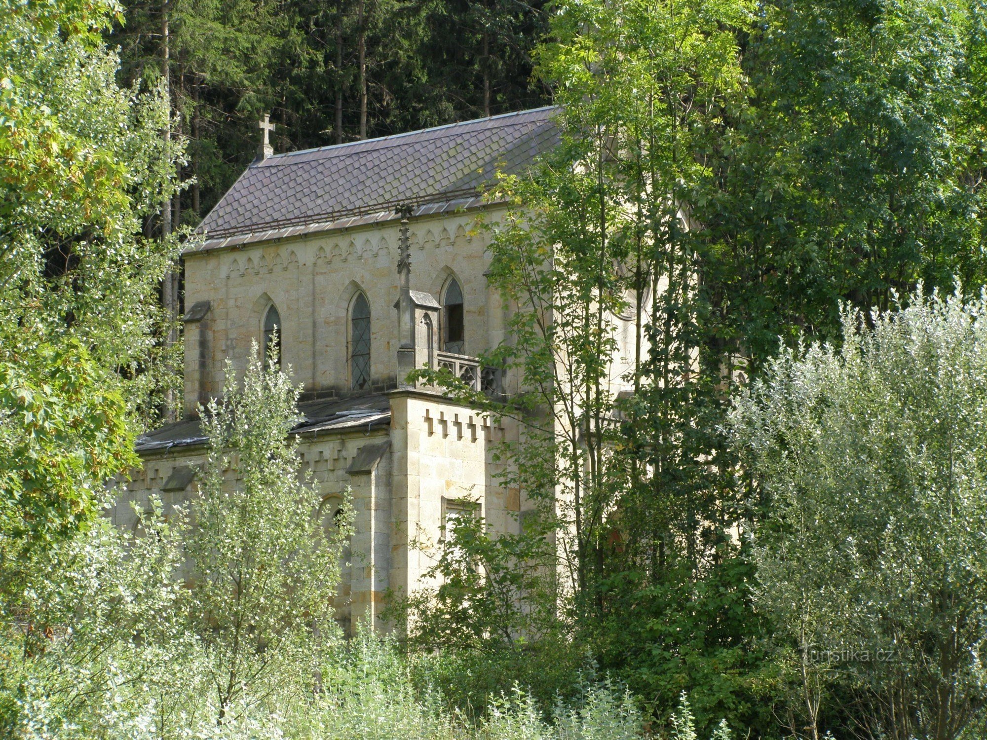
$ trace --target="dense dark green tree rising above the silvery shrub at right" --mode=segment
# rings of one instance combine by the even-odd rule
[[[769,2],[742,40],[744,96],[690,186],[710,333],[753,377],[839,304],[983,261],[980,2]]]

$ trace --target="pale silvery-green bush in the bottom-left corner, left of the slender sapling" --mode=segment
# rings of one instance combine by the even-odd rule
[[[194,705],[197,646],[177,577],[185,518],[166,518],[160,501],[137,514],[133,530],[101,518],[32,552],[29,583],[0,589],[4,737],[168,737]]]

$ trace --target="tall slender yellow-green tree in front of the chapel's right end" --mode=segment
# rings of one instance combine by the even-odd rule
[[[460,398],[525,424],[501,452],[505,483],[554,529],[569,627],[656,716],[691,688],[704,725],[740,723],[756,713],[751,569],[728,532],[729,375],[704,333],[686,195],[722,110],[742,100],[749,8],[558,10],[538,71],[562,104],[561,144],[501,179],[510,207],[489,224],[489,279],[511,315],[483,361],[506,369],[509,397]]]

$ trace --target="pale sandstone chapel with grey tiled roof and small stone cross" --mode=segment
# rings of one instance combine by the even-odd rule
[[[184,254],[185,415],[138,439],[142,469],[111,512],[133,526],[130,501],[174,505],[196,491],[205,458],[196,406],[222,394],[223,366],[242,373],[252,340],[275,327],[281,362],[303,384],[302,465],[332,514],[349,486],[354,535],[338,616],[380,629],[388,589],[408,594],[451,518],[479,514],[494,532],[520,526],[522,491],[498,484],[502,425],[409,384],[415,367],[446,367],[489,393],[516,379],[476,356],[504,338],[505,307],[488,286],[478,212],[497,171],[520,173],[554,146],[553,108],[257,159]],[[231,484],[235,482],[231,481]]]

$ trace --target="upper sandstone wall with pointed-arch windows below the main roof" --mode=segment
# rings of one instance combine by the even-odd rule
[[[484,275],[489,265],[486,235],[477,231],[474,216],[413,219],[411,246],[414,290],[441,301],[451,276],[462,286],[464,353],[475,355],[494,346],[502,337],[502,308]],[[262,342],[262,323],[271,303],[284,325],[283,362],[291,366],[295,380],[308,394],[348,393],[348,310],[358,291],[370,304],[373,390],[394,388],[397,261],[397,222],[187,254],[186,306],[199,301],[211,306],[204,333],[186,333],[187,412],[199,399],[199,385],[212,395],[222,392],[226,357],[243,373],[251,341]],[[201,373],[203,353],[206,370]]]

